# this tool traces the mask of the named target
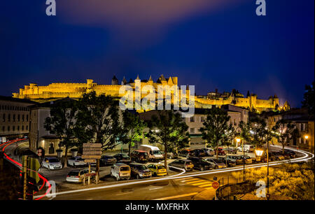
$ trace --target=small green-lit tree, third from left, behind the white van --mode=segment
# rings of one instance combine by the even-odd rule
[[[128,145],[128,155],[130,156],[131,147],[135,142],[144,138],[144,128],[146,123],[140,120],[138,115],[130,113],[128,110],[123,112],[123,131],[120,133],[120,141]]]

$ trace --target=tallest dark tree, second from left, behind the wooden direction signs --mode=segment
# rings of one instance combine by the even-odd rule
[[[95,92],[83,94],[79,100],[76,136],[80,143],[101,143],[102,150],[116,146],[116,136],[121,132],[117,104],[110,96],[97,96]],[[97,175],[99,159],[97,159]]]

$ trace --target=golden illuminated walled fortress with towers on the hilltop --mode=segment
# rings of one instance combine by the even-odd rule
[[[111,80],[111,85],[98,85],[93,80],[88,79],[86,83],[51,83],[50,85],[38,86],[31,83],[25,85],[24,89],[20,89],[19,93],[13,93],[13,97],[20,99],[30,99],[32,101],[44,102],[49,100],[61,99],[70,97],[78,99],[82,97],[84,93],[96,92],[97,95],[106,94],[112,97],[122,97],[123,94],[119,93],[121,85],[130,85],[132,89],[135,88],[135,81],[141,81],[141,88],[145,85],[152,85],[155,88],[155,92],[158,92],[158,85],[168,85],[170,87],[178,85],[177,77],[165,78],[163,75],[158,78],[156,82],[153,82],[151,76],[148,80],[140,80],[139,76],[128,82],[123,80],[119,83],[116,76]],[[188,89],[186,91],[188,94]],[[141,94],[141,97],[143,94]],[[146,95],[146,94],[144,94]],[[158,96],[156,96],[158,97]],[[223,94],[216,92],[210,92],[207,96],[195,96],[195,108],[211,108],[211,106],[233,105],[248,108],[250,110],[276,110],[282,108],[288,110],[290,106],[288,102],[284,106],[279,106],[279,98],[276,95],[269,97],[269,99],[258,99],[257,95],[247,93],[244,97],[237,90],[232,92],[224,92]]]

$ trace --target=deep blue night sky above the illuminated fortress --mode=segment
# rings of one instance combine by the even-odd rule
[[[45,0],[0,4],[0,94],[29,83],[178,76],[197,94],[247,90],[300,106],[314,80],[314,0]],[[126,3],[128,2],[128,3]]]

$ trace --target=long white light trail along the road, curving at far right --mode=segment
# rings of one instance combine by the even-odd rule
[[[293,150],[291,148],[288,148],[288,149]],[[297,157],[295,159],[290,159],[290,160],[282,160],[282,161],[278,161],[278,162],[269,162],[269,166],[275,166],[275,165],[279,165],[279,164],[283,164],[283,163],[287,163],[287,162],[305,162],[308,159],[311,159],[311,157],[309,157],[309,155],[311,155],[310,152],[304,152],[304,151],[298,151],[298,152],[302,153],[304,156],[303,157]],[[312,157],[314,157],[314,155],[312,155]],[[262,166],[267,166],[267,163],[251,164],[251,165],[246,166],[246,169],[258,168],[258,167],[262,167]],[[169,167],[176,168],[174,166],[169,166]],[[179,169],[179,168],[176,168],[176,169]],[[183,169],[179,169],[179,170],[183,170]],[[61,194],[87,192],[87,191],[91,191],[91,190],[104,190],[104,189],[109,189],[109,188],[113,188],[113,187],[123,187],[123,186],[127,186],[127,185],[137,185],[137,184],[141,184],[141,183],[152,183],[152,182],[161,181],[161,180],[172,180],[172,179],[174,179],[174,177],[176,177],[177,179],[180,179],[180,178],[188,178],[188,177],[194,177],[194,176],[204,176],[204,175],[209,175],[209,174],[214,174],[214,173],[226,173],[226,172],[239,171],[239,170],[243,170],[243,166],[237,166],[237,167],[233,167],[231,169],[215,169],[215,170],[209,171],[209,172],[189,173],[189,174],[186,174],[185,176],[181,176],[183,173],[185,173],[185,171],[183,171],[182,173],[179,173],[178,175],[169,176],[167,178],[157,178],[157,179],[153,179],[153,180],[138,180],[138,181],[132,181],[132,182],[126,182],[126,183],[119,183],[119,184],[115,184],[115,185],[106,185],[106,186],[102,186],[102,187],[86,188],[86,189],[82,189],[82,190],[70,190],[70,191],[65,191],[65,192],[57,192],[57,193],[55,193],[55,195],[57,196],[57,195],[61,195]],[[37,197],[43,197],[43,196],[37,196]],[[37,197],[34,197],[34,198],[37,198]]]

